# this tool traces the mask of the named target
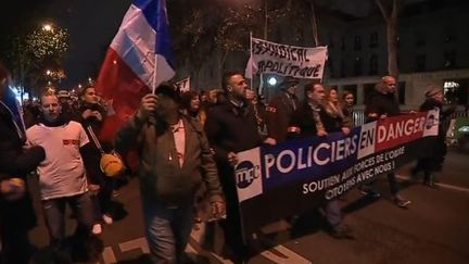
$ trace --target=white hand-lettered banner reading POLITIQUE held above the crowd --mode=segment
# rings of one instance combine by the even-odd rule
[[[295,78],[322,79],[327,47],[303,48],[251,38],[245,75],[271,73]]]

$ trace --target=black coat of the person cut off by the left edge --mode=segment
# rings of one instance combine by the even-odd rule
[[[11,113],[0,103],[1,179],[20,177],[26,181],[26,175],[36,169],[46,158],[41,147],[24,150],[24,142],[25,138],[18,135]],[[2,228],[31,228],[35,225],[36,215],[28,191],[25,197],[16,201],[8,201],[0,196],[0,226]]]

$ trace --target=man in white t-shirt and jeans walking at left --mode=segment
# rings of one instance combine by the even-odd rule
[[[42,120],[27,129],[26,135],[29,144],[46,150],[46,160],[37,172],[54,259],[61,263],[71,262],[72,248],[65,243],[65,205],[71,206],[78,222],[77,239],[87,239],[93,224],[93,205],[83,159],[90,144],[79,123],[64,120],[55,95],[45,93],[40,110]]]

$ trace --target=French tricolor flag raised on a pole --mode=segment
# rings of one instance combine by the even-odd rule
[[[141,98],[175,75],[165,0],[135,0],[110,45],[96,89],[112,103],[100,138],[111,140]],[[156,78],[155,78],[156,76]]]

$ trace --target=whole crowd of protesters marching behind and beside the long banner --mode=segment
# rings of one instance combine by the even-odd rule
[[[304,86],[304,100],[296,97],[300,81],[286,77],[282,92],[263,102],[239,72],[227,72],[221,89],[179,93],[169,83],[141,99],[140,109],[121,128],[114,142],[99,139],[106,118],[106,104],[93,87],[73,100],[67,91],[46,91],[39,102],[23,105],[22,115],[11,90],[9,73],[0,64],[0,235],[3,263],[28,263],[33,254],[27,234],[36,225],[27,190],[27,175],[37,171],[39,191],[50,246],[58,263],[71,263],[77,244],[87,243],[112,224],[110,206],[114,180],[101,164],[103,153],[138,150],[145,236],[155,263],[183,263],[183,250],[194,222],[202,222],[200,203],[225,230],[226,255],[236,263],[249,257],[241,237],[234,165],[237,153],[262,144],[277,144],[297,137],[350,134],[354,97],[340,95],[320,83]],[[395,78],[384,76],[366,101],[368,122],[401,113],[395,98]],[[441,109],[441,87],[431,86],[420,110]],[[446,117],[448,112],[442,112]],[[441,137],[444,139],[443,130]],[[434,187],[434,173],[445,156],[439,150],[423,156],[413,171],[424,173]],[[400,193],[395,173],[389,173],[391,192],[400,208],[410,201]],[[379,198],[372,183],[360,187],[364,194]],[[75,237],[65,239],[65,206],[77,221]],[[337,199],[320,206],[334,238],[351,238]],[[21,252],[21,253],[20,253]]]

